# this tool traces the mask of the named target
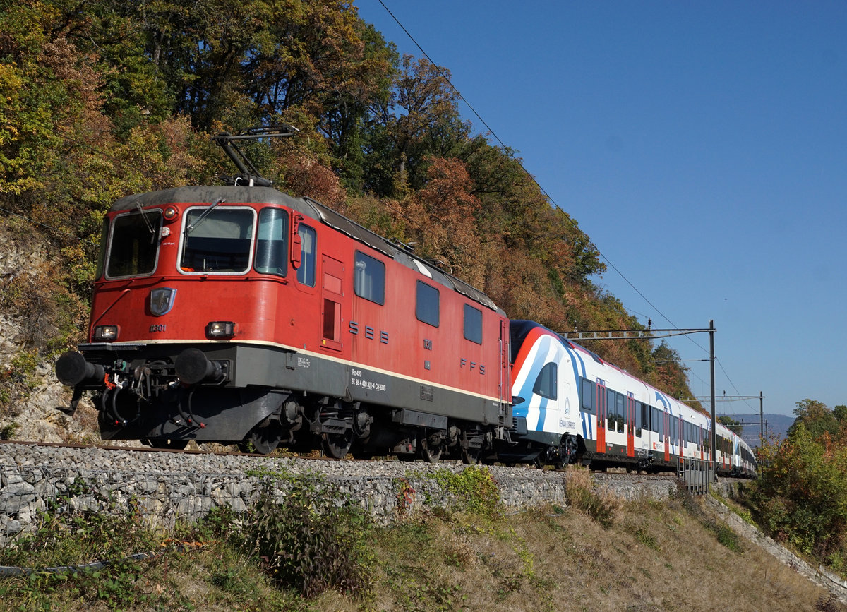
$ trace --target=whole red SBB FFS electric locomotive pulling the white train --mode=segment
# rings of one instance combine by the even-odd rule
[[[308,199],[265,187],[122,198],[94,289],[89,342],[57,374],[74,401],[95,391],[106,439],[241,442],[258,425],[259,447],[283,425],[329,432],[340,453],[351,430],[391,446],[369,435],[376,420],[407,450],[415,431],[436,431],[439,448],[464,433],[467,450],[511,425],[505,314]]]

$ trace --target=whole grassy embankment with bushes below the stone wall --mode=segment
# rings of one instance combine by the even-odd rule
[[[446,470],[445,470],[446,472]],[[216,512],[175,531],[108,518],[61,501],[0,564],[46,567],[123,559],[69,574],[0,582],[3,609],[656,610],[843,609],[811,582],[679,495],[622,503],[569,477],[566,508],[507,513],[487,470],[443,473],[457,505],[379,527],[354,504],[292,479],[283,503]],[[84,485],[80,484],[80,487]],[[107,500],[108,501],[108,500]],[[181,542],[181,543],[180,543]],[[303,593],[307,593],[304,596]]]

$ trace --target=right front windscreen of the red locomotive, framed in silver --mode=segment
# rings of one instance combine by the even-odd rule
[[[276,211],[275,214],[285,217],[285,212],[282,210]],[[243,274],[246,272],[250,264],[253,219],[252,209],[210,209],[207,207],[190,209],[185,214],[180,270],[188,273]],[[265,222],[270,223],[267,216]],[[277,219],[276,225],[280,223],[285,221]],[[274,233],[272,225],[274,224],[270,224],[263,231],[268,240]],[[279,227],[275,230],[279,231]],[[268,266],[269,261],[266,261]]]

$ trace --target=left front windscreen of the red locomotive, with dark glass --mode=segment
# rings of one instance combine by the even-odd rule
[[[106,275],[151,275],[156,270],[162,214],[158,210],[115,217],[109,242]]]

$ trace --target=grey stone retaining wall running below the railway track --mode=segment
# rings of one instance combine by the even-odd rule
[[[197,520],[215,506],[243,512],[255,502],[263,478],[268,477],[281,495],[291,476],[319,476],[325,486],[360,500],[376,520],[387,523],[397,515],[401,487],[407,491],[405,512],[450,507],[451,494],[433,476],[436,470],[464,469],[454,462],[315,461],[0,443],[0,546],[34,528],[38,512],[50,504],[121,512],[131,503],[152,525],[172,526],[175,520]],[[485,469],[509,509],[566,502],[562,472]],[[667,498],[676,489],[673,476],[604,474],[596,475],[595,481],[626,499]]]

